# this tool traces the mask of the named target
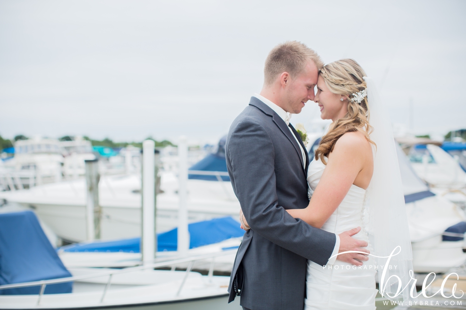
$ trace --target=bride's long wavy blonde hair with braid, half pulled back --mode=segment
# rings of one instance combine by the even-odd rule
[[[358,103],[351,101],[353,94],[366,89],[366,76],[359,63],[352,59],[342,59],[325,65],[319,72],[324,79],[327,88],[335,94],[343,95],[348,101],[348,112],[343,118],[336,120],[329,129],[329,132],[322,137],[316,150],[316,159],[320,157],[324,164],[327,164],[324,156],[328,157],[333,151],[335,143],[347,132],[360,131],[364,133],[367,141],[375,143],[369,139],[369,134],[373,128],[369,124],[369,106],[367,96]]]

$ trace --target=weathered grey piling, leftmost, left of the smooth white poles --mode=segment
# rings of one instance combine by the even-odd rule
[[[85,160],[86,167],[86,232],[87,241],[100,239],[100,216],[99,205],[99,160]]]

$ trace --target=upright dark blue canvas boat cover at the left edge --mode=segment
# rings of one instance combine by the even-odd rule
[[[31,211],[0,214],[0,285],[71,277]],[[72,282],[47,285],[44,294],[71,293]],[[0,290],[39,294],[40,287]]]

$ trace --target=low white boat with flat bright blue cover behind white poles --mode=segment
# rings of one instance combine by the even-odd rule
[[[188,225],[190,257],[219,253],[238,248],[244,231],[232,217],[214,218]],[[177,252],[178,229],[157,235],[155,262],[179,259]],[[68,268],[75,267],[127,267],[141,264],[141,238],[113,241],[96,241],[71,244],[57,249]],[[216,260],[216,271],[231,272],[234,253]],[[178,266],[180,267],[180,266]],[[186,266],[184,266],[186,267]],[[209,270],[209,261],[199,261],[199,270]]]

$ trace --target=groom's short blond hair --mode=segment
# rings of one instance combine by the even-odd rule
[[[308,61],[314,62],[318,70],[324,65],[319,55],[301,42],[287,41],[279,44],[268,53],[264,67],[264,84],[272,85],[283,72],[288,72],[292,78],[296,77]]]

